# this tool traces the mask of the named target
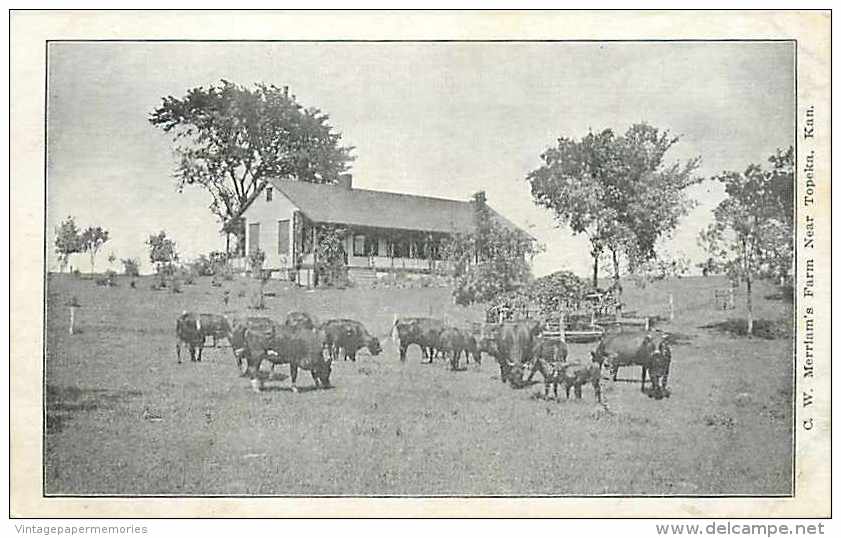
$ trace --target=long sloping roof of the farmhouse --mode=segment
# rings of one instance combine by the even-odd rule
[[[473,204],[468,201],[304,181],[273,179],[270,183],[318,223],[443,233],[467,232],[474,227]],[[500,224],[526,233],[491,211]]]

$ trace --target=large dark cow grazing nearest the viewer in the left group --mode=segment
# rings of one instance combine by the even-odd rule
[[[309,330],[278,326],[269,337],[258,331],[246,329],[248,346],[248,376],[255,392],[262,389],[262,380],[257,372],[264,360],[275,364],[288,364],[292,381],[292,392],[298,392],[298,369],[309,370],[316,387],[330,386],[332,359],[324,356],[325,334],[321,330]]]

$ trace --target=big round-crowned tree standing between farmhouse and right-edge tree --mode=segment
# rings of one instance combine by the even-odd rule
[[[632,125],[622,136],[605,129],[580,141],[559,138],[541,155],[543,165],[528,174],[535,203],[590,240],[593,286],[598,285],[605,251],[618,283],[620,257],[631,268],[652,259],[657,241],[694,206],[685,189],[699,181],[693,172],[700,159],[664,162],[679,140],[644,123]]]

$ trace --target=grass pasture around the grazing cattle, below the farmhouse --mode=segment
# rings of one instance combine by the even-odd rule
[[[122,277],[121,277],[122,278]],[[488,358],[451,372],[401,364],[385,338],[393,316],[479,320],[447,289],[305,291],[272,283],[261,315],[304,310],[350,317],[383,338],[384,351],[334,364],[330,390],[289,391],[288,369],[262,394],[238,376],[229,349],[176,364],[183,310],[245,310],[209,279],[183,293],[117,288],[50,275],[47,298],[46,494],[260,495],[785,495],[791,492],[792,342],[727,332],[741,309],[712,305],[717,278],[625,288],[627,308],[664,316],[674,294],[671,398],[636,383],[605,382],[609,411],[592,390],[546,401],[536,384],[500,383]],[[791,304],[758,286],[756,315],[791,318]],[[79,334],[65,303],[77,297]],[[571,346],[585,358],[593,345]],[[303,389],[311,378],[299,379]],[[159,417],[154,418],[153,417]]]

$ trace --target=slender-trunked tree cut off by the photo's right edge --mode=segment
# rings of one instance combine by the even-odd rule
[[[794,149],[777,151],[769,161],[770,171],[751,164],[744,172],[713,178],[724,184],[727,198],[699,237],[715,264],[745,283],[748,335],[753,334],[753,282],[781,271],[788,274],[794,252]]]

